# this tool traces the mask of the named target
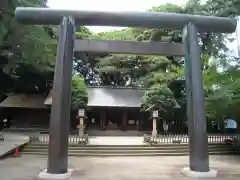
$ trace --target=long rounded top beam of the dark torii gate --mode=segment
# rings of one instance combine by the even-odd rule
[[[18,7],[16,18],[24,24],[58,25],[63,16],[72,16],[81,26],[121,26],[182,30],[192,22],[201,31],[232,33],[236,19],[162,12],[102,12]]]

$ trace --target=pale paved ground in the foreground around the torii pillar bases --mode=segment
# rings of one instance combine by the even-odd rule
[[[47,158],[22,156],[0,161],[1,180],[38,180],[46,168]],[[188,157],[119,157],[69,158],[74,169],[72,180],[193,180],[180,170],[188,165]],[[211,156],[210,165],[219,171],[216,180],[239,180],[239,156]],[[206,179],[206,178],[205,178]]]

